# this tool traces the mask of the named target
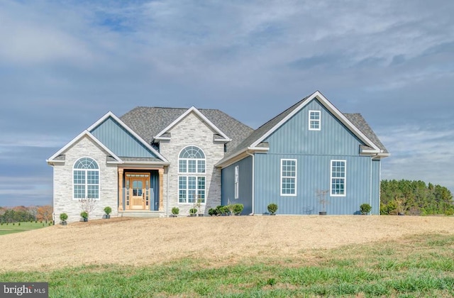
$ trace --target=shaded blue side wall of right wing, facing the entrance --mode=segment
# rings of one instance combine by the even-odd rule
[[[235,167],[238,166],[239,184],[238,199],[235,199]],[[249,156],[233,165],[222,169],[221,172],[221,204],[243,204],[244,209],[241,214],[251,214],[253,211],[253,158]]]

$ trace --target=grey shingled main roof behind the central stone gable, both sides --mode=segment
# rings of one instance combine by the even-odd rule
[[[152,143],[153,138],[163,129],[169,126],[188,109],[160,108],[138,106],[121,116],[121,121],[126,123],[147,143]],[[197,109],[206,118],[218,127],[231,142],[227,143],[227,152],[236,148],[238,144],[253,132],[253,128],[246,126],[240,121],[228,116],[218,109]]]

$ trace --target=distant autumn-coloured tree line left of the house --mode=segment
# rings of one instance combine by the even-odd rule
[[[15,206],[13,208],[0,207],[0,223],[15,223],[26,221],[51,221],[52,206]]]

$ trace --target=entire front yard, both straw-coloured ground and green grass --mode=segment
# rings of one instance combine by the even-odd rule
[[[0,251],[2,282],[50,297],[454,297],[452,216],[100,219]]]

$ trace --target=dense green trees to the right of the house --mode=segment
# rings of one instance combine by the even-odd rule
[[[382,180],[380,214],[454,214],[453,195],[440,185],[423,181]]]

